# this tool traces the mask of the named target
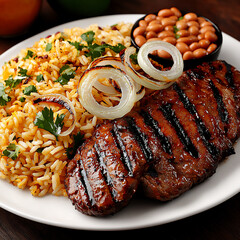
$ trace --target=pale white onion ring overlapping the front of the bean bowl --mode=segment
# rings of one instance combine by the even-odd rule
[[[148,54],[155,50],[164,50],[172,56],[173,65],[170,70],[161,71],[156,69],[148,58]],[[152,78],[159,81],[175,81],[182,75],[183,59],[180,51],[172,44],[164,41],[151,41],[143,44],[137,56],[138,64]]]

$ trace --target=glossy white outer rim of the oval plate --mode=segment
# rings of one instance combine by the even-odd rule
[[[0,55],[0,62],[4,61],[4,59],[6,57],[8,57],[8,59],[6,60],[10,60],[9,57],[14,57],[12,54],[16,54],[16,51],[20,51],[24,45],[28,44],[29,42],[31,42],[31,44],[34,44],[35,41],[38,41],[40,38],[44,37],[44,35],[46,34],[46,36],[51,32],[51,34],[54,34],[56,29],[64,29],[64,28],[68,28],[69,25],[75,25],[81,21],[86,21],[86,20],[93,20],[95,19],[96,20],[96,24],[98,23],[98,20],[101,20],[101,19],[106,19],[106,18],[118,18],[118,17],[133,17],[133,18],[136,18],[136,20],[138,18],[140,18],[141,16],[143,16],[144,14],[116,14],[116,15],[106,15],[106,16],[98,16],[98,17],[90,17],[90,18],[84,18],[84,19],[79,19],[79,20],[74,20],[74,21],[70,21],[70,22],[67,22],[67,23],[63,23],[63,24],[60,24],[60,25],[57,25],[57,26],[54,26],[54,27],[51,27],[47,30],[44,30],[40,33],[37,33],[21,42],[19,42],[18,44],[12,46],[11,48],[7,49],[4,53],[2,53]],[[80,27],[80,26],[79,26]],[[240,41],[231,37],[230,35],[226,34],[223,32],[223,36],[224,37],[227,37],[227,38],[230,38],[232,41],[237,41],[237,44],[240,44]],[[224,42],[223,42],[224,44]],[[1,64],[1,67],[2,67],[2,64]],[[2,180],[1,181],[4,181],[6,182],[5,180]],[[9,184],[9,183],[7,183]],[[11,186],[9,184],[9,186]],[[15,190],[19,190],[17,189],[15,186],[12,186],[14,187]],[[20,190],[22,191],[22,190]],[[24,212],[21,212],[19,209],[14,209],[10,206],[7,206],[5,204],[3,204],[1,202],[1,196],[0,196],[0,207],[13,213],[13,214],[16,214],[20,217],[23,217],[23,218],[26,218],[26,219],[29,219],[29,220],[32,220],[32,221],[35,221],[35,222],[39,222],[39,223],[43,223],[43,224],[47,224],[47,225],[51,225],[51,226],[57,226],[57,227],[63,227],[63,228],[69,228],[69,229],[78,229],[78,230],[98,230],[98,231],[106,231],[106,230],[133,230],[133,229],[139,229],[139,228],[147,228],[147,227],[153,227],[153,226],[157,226],[157,225],[163,225],[163,224],[166,224],[166,223],[169,223],[169,222],[174,222],[174,221],[178,221],[180,219],[184,219],[184,218],[187,218],[187,217],[190,217],[190,216],[193,216],[193,215],[196,215],[198,213],[201,213],[201,212],[204,212],[206,210],[209,210],[213,207],[216,207],[217,205],[225,202],[226,200],[230,199],[231,197],[233,197],[234,195],[236,195],[237,193],[240,192],[240,186],[239,186],[239,189],[235,192],[232,192],[231,195],[228,195],[226,196],[225,198],[222,198],[220,201],[216,201],[214,203],[212,203],[211,205],[208,205],[208,206],[205,206],[203,208],[198,208],[197,210],[195,210],[194,212],[188,212],[186,214],[183,214],[181,216],[178,216],[177,218],[174,218],[173,220],[166,220],[165,222],[161,222],[160,224],[157,222],[157,221],[150,221],[149,223],[142,223],[142,224],[138,224],[138,225],[130,225],[129,227],[125,226],[125,227],[117,227],[117,226],[113,226],[113,227],[109,227],[109,226],[106,226],[106,227],[98,227],[98,226],[89,226],[89,227],[72,227],[72,226],[68,226],[64,223],[61,223],[61,222],[53,222],[53,221],[48,221],[48,220],[45,220],[45,219],[42,219],[42,218],[39,218],[39,217],[36,217],[36,216],[33,216],[29,213],[24,213]],[[30,194],[30,192],[28,191],[28,194]],[[76,211],[76,210],[74,210]]]

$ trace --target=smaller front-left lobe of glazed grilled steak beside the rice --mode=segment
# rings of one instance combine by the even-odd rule
[[[113,214],[136,192],[147,167],[146,150],[129,121],[98,126],[68,164],[65,184],[77,210],[95,216]]]

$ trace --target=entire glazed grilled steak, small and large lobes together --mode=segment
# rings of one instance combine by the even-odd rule
[[[183,73],[127,116],[105,121],[67,168],[76,209],[107,215],[128,204],[139,183],[166,201],[211,176],[239,136],[240,73],[223,61]]]

